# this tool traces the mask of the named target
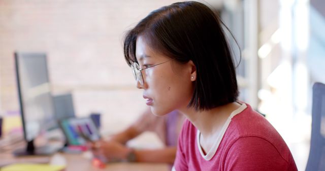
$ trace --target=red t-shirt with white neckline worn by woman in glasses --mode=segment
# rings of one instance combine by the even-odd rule
[[[244,105],[244,106],[243,106]],[[174,168],[183,170],[297,170],[293,156],[274,127],[247,104],[232,113],[215,149],[204,156],[200,132],[186,120],[178,140]],[[201,152],[200,152],[201,151]],[[212,154],[211,154],[212,152]]]

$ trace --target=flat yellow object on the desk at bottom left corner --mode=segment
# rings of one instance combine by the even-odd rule
[[[10,164],[0,168],[1,171],[61,171],[64,170],[64,165],[50,165],[50,164],[31,164],[31,163],[17,163]]]

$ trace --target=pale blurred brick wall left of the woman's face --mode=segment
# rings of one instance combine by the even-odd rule
[[[19,110],[14,51],[46,52],[53,93],[72,92],[77,115],[99,111],[105,129],[121,129],[145,108],[123,34],[172,2],[0,0],[0,111]]]

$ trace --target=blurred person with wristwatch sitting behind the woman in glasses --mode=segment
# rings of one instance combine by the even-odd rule
[[[140,118],[127,129],[110,136],[107,140],[92,143],[92,152],[95,157],[100,156],[106,162],[165,162],[172,164],[175,160],[177,139],[183,121],[184,116],[178,111],[172,111],[167,116],[159,117],[153,115],[150,108],[147,108]],[[126,146],[129,140],[146,131],[156,133],[165,147],[133,149]]]

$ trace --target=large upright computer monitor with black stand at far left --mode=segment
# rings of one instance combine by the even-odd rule
[[[54,106],[45,53],[15,53],[15,69],[25,149],[15,155],[49,155],[51,146],[36,147],[34,140],[41,132],[55,127]]]

